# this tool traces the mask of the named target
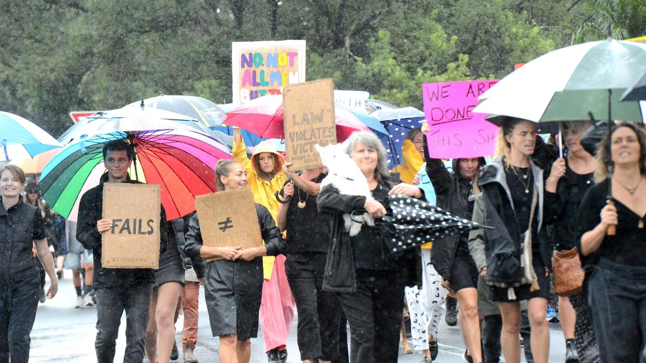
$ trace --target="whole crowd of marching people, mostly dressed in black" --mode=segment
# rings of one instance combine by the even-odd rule
[[[562,140],[546,142],[535,123],[505,118],[494,158],[445,163],[430,157],[424,122],[408,133],[404,163],[392,171],[379,138],[355,132],[339,150],[359,168],[370,196],[326,183],[329,167],[290,171],[269,143],[249,157],[236,129],[233,160],[220,160],[210,177],[218,192],[251,189],[264,244],[206,245],[197,213],[167,220],[162,207],[156,270],[101,265],[101,234],[112,228],[101,214],[103,185],[139,183],[129,175],[136,158],[129,141],[105,144],[107,171],[83,194],[76,223],[50,211],[37,183],[27,183],[19,167],[5,165],[0,363],[28,361],[39,300],[56,295],[63,266],[72,269],[76,307],[96,304],[99,363],[114,361],[124,311],[124,362],[177,359],[181,310],[183,361],[198,362],[200,286],[223,363],[249,362],[258,327],[268,362],[286,362],[295,315],[304,363],[396,362],[401,338],[408,345],[401,333],[404,310],[422,363],[437,359],[445,315],[449,324],[459,323],[467,362],[504,357],[519,363],[522,340],[528,362],[547,363],[546,312],[559,278],[574,284],[556,289],[563,360],[640,362],[646,353],[646,134],[617,123],[584,147],[584,132],[595,127],[567,123]],[[397,194],[486,227],[392,253],[383,228]],[[374,223],[348,230],[357,211]],[[415,218],[414,208],[411,213]],[[565,258],[570,264],[561,263]],[[573,282],[576,274],[585,278]]]

